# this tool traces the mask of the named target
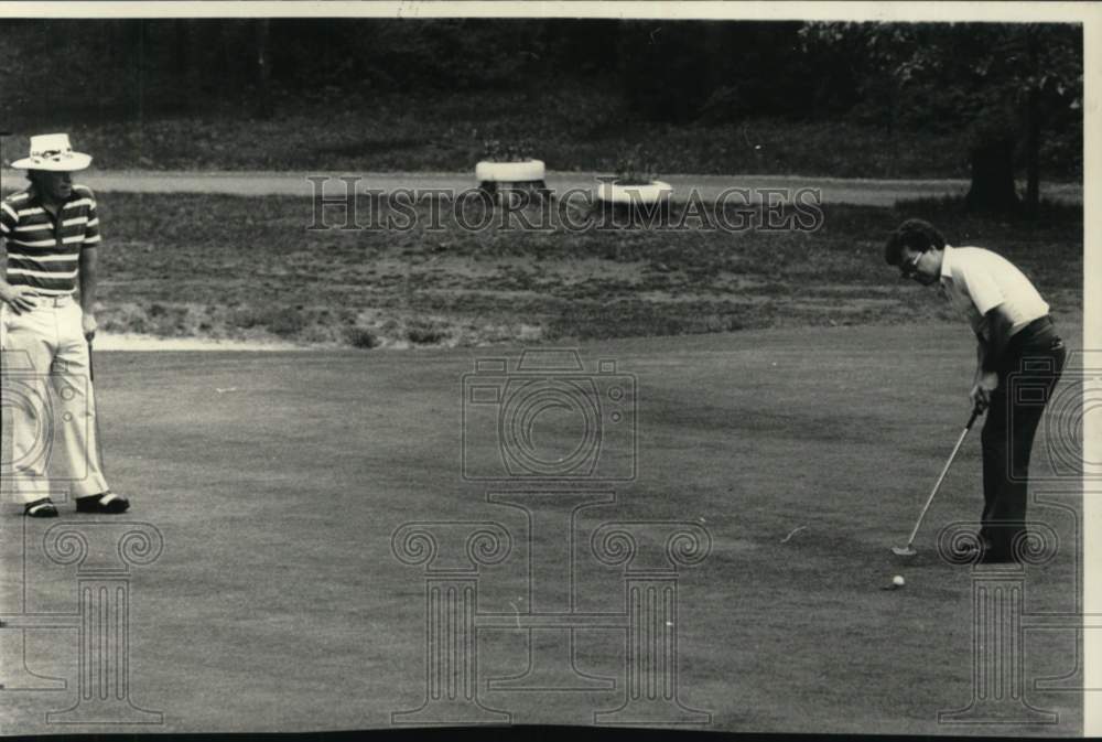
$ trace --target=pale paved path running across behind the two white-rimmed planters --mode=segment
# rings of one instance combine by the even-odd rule
[[[598,176],[595,172],[549,172],[548,187],[557,193],[573,189],[593,191]],[[314,193],[314,182],[309,178],[327,178],[327,194],[339,194],[344,185],[341,178],[357,179],[358,191],[378,190],[385,193],[398,189],[450,189],[463,191],[476,185],[468,173],[355,173],[355,172],[186,172],[186,171],[100,171],[91,170],[80,175],[80,182],[101,192],[140,193],[226,193],[245,196],[298,195]],[[749,189],[752,197],[760,201],[765,190],[819,189],[821,203],[854,204],[860,206],[892,206],[900,198],[922,198],[962,195],[968,192],[966,180],[864,180],[802,175],[663,175],[673,186],[674,198],[685,200],[696,189],[703,200],[714,200],[728,189]],[[17,187],[23,182],[20,171],[0,171],[0,187]],[[331,190],[332,189],[332,190]],[[1067,203],[1082,203],[1082,187],[1076,183],[1044,183],[1041,196]],[[737,198],[732,203],[741,203]]]

